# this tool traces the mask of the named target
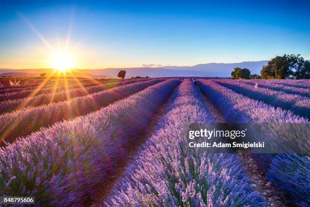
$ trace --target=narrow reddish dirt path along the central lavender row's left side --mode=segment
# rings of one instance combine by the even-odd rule
[[[174,89],[174,91],[176,90],[176,88]],[[174,93],[174,91],[170,94],[170,97],[166,100],[166,102],[160,107],[158,113],[153,115],[153,118],[148,123],[143,134],[138,136],[134,141],[131,141],[127,143],[126,146],[124,146],[124,149],[127,151],[126,159],[118,162],[117,166],[115,166],[115,171],[113,171],[110,175],[107,176],[109,180],[104,184],[104,186],[102,186],[101,189],[98,190],[98,195],[93,196],[97,199],[94,199],[91,203],[89,203],[90,206],[95,207],[100,206],[100,204],[102,205],[104,203],[104,200],[112,194],[115,184],[117,184],[117,182],[122,179],[126,167],[135,158],[145,141],[156,130],[156,126],[159,124],[161,117],[166,113],[166,110],[171,103],[172,94]]]

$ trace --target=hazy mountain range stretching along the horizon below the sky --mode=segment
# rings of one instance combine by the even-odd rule
[[[126,78],[135,76],[149,76],[149,77],[174,77],[174,76],[201,76],[201,77],[230,77],[231,71],[235,67],[246,67],[251,71],[251,74],[260,74],[263,65],[267,61],[248,61],[239,63],[206,63],[193,66],[160,66],[160,67],[126,67],[126,68],[103,68],[103,69],[83,69],[74,74],[77,77],[90,76],[92,78],[111,77],[116,78],[120,70],[125,70]],[[50,74],[53,69],[0,69],[1,73],[32,73]]]

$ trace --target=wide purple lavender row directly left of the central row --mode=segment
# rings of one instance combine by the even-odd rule
[[[0,149],[0,194],[35,196],[37,206],[83,205],[126,156],[122,146],[143,131],[179,83],[161,82]]]

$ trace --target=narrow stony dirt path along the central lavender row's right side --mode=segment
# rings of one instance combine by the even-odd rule
[[[199,89],[199,87],[197,88]],[[203,95],[203,97],[210,113],[214,116],[214,118],[218,122],[225,122],[224,115],[213,105],[213,103],[205,95]],[[267,181],[264,176],[264,172],[257,167],[256,161],[253,160],[249,154],[240,154],[240,156],[246,175],[249,177],[252,183],[251,185],[254,187],[256,192],[258,192],[264,197],[266,202],[270,203],[270,205],[268,206],[289,206],[285,198],[280,194],[281,191],[275,186],[273,186],[272,183]]]

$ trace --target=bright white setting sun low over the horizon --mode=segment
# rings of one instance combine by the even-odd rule
[[[68,52],[55,52],[51,55],[51,67],[59,71],[66,71],[75,66],[73,56]]]

